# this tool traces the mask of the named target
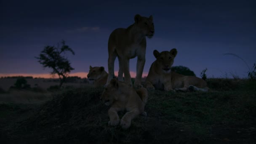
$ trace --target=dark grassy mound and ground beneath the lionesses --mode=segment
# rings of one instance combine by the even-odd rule
[[[147,116],[136,117],[128,130],[119,125],[108,126],[109,107],[99,100],[104,88],[78,86],[30,94],[16,91],[22,98],[3,92],[0,141],[2,144],[256,143],[256,81],[214,78],[207,82],[212,90],[208,93],[149,91]],[[19,99],[6,99],[8,94]],[[124,112],[119,113],[120,117],[123,115]]]

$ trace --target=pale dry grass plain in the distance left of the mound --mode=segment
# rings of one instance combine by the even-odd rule
[[[28,90],[10,90],[14,85],[16,78],[1,78],[0,79],[0,103],[15,103],[15,104],[35,104],[41,103],[52,98],[52,92],[48,92],[47,88],[53,85],[59,85],[56,79],[26,79],[27,84],[31,86],[31,91]],[[85,88],[93,87],[93,84],[83,83],[83,79],[75,83],[64,83],[63,88]]]

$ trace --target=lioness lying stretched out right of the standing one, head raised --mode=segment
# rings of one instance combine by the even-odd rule
[[[156,60],[152,63],[145,81],[148,90],[208,91],[207,83],[203,79],[171,72],[171,66],[177,55],[175,48],[161,53],[155,50],[153,54]]]

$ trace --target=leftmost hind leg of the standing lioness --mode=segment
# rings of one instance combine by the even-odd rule
[[[109,59],[108,59],[108,70],[109,70],[109,75],[107,77],[107,83],[105,87],[110,83],[110,80],[114,77],[114,64],[115,64],[115,59],[117,57],[117,53],[115,51],[109,51]]]

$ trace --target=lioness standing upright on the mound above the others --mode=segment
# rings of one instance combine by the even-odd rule
[[[118,57],[119,61],[118,80],[123,81],[124,73],[125,83],[132,85],[129,70],[129,61],[130,59],[138,56],[134,87],[141,87],[141,76],[145,64],[146,36],[151,38],[154,35],[155,28],[152,16],[149,16],[149,18],[147,18],[136,14],[134,16],[134,20],[135,23],[128,28],[115,29],[109,36],[109,75],[106,85],[110,83],[110,80],[114,76],[114,62],[116,57]]]

